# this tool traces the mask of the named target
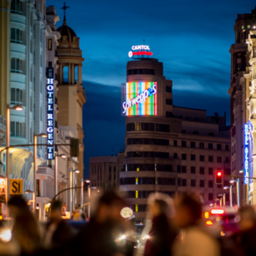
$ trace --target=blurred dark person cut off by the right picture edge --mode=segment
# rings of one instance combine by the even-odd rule
[[[240,255],[255,256],[256,246],[256,212],[252,206],[243,206],[238,210],[240,221],[239,232],[233,235],[236,250]]]

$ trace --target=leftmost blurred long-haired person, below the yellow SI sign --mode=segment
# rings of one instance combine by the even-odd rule
[[[17,241],[21,255],[33,255],[41,249],[40,228],[23,197],[12,197],[7,206],[14,219],[12,240]]]

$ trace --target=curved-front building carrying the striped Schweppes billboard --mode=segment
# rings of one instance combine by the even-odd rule
[[[144,222],[150,193],[189,193],[210,204],[229,185],[227,178],[220,185],[214,181],[217,170],[230,175],[225,116],[174,106],[172,88],[157,59],[128,61],[122,89],[122,110],[127,117],[120,191],[138,223]]]

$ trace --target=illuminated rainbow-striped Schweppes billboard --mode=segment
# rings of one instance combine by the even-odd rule
[[[122,116],[157,116],[157,82],[122,85]]]

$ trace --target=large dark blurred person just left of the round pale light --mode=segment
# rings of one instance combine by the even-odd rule
[[[116,243],[121,235],[120,212],[124,206],[124,200],[116,192],[105,192],[99,198],[90,221],[70,245],[70,253],[86,256],[124,255]]]

